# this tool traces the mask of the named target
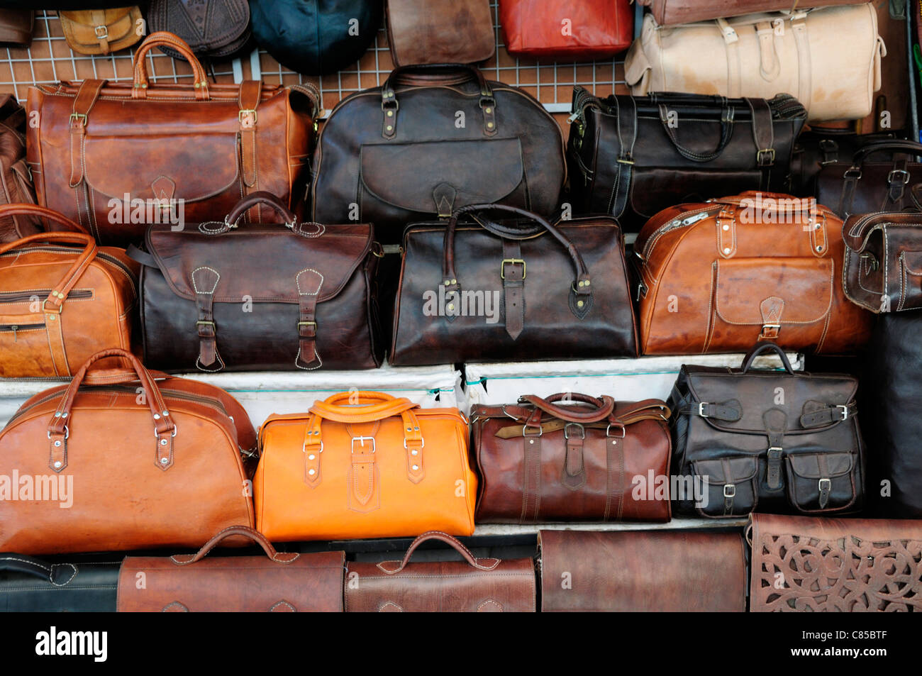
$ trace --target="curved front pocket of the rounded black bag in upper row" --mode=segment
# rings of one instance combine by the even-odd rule
[[[475,124],[480,121],[467,120]],[[451,204],[443,212],[502,201],[522,183],[525,166],[518,138],[492,138],[363,145],[360,171],[365,189],[387,204],[439,213],[436,199],[446,195]],[[396,182],[395,176],[413,180]]]

